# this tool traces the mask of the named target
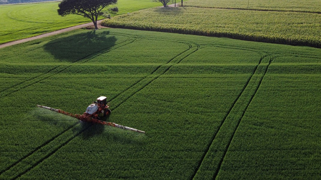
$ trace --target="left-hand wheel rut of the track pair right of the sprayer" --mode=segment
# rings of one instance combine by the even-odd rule
[[[241,97],[242,93],[243,93],[244,90],[246,89],[247,85],[249,84],[250,80],[252,79],[253,75],[255,74],[255,72],[256,72],[256,70],[257,70],[257,67],[261,64],[262,60],[263,60],[265,57],[267,57],[267,56],[268,56],[268,55],[261,56],[258,64],[255,66],[255,68],[254,68],[254,70],[253,70],[253,73],[252,73],[251,76],[248,78],[247,82],[246,82],[245,85],[243,86],[243,89],[242,89],[241,92],[239,93],[238,97],[234,100],[232,106],[230,107],[230,109],[228,110],[228,112],[227,112],[226,115],[224,116],[223,120],[221,121],[221,124],[219,125],[218,130],[214,133],[214,135],[213,135],[210,143],[207,145],[207,148],[206,148],[205,152],[203,153],[203,155],[202,155],[202,157],[201,157],[201,159],[200,159],[200,161],[199,161],[199,163],[198,163],[198,166],[197,166],[197,168],[195,169],[194,174],[193,174],[193,176],[191,177],[191,179],[194,179],[195,175],[197,174],[199,168],[201,167],[201,165],[202,165],[202,163],[203,163],[203,161],[204,161],[204,158],[205,158],[206,154],[208,153],[211,145],[213,144],[213,142],[214,142],[214,140],[215,140],[215,137],[216,137],[217,133],[220,131],[220,129],[221,129],[223,123],[225,122],[227,116],[229,116],[230,112],[232,111],[232,108],[235,106],[236,102],[239,100],[239,98]]]

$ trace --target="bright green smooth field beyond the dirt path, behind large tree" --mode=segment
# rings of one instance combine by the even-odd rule
[[[79,15],[59,16],[58,4],[59,2],[1,5],[0,44],[91,22]],[[117,15],[161,5],[152,0],[118,0]]]

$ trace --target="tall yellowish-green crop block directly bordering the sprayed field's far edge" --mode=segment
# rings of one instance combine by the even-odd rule
[[[187,1],[186,4],[193,5],[196,2],[206,4],[204,1],[196,0]],[[215,5],[213,3],[215,1],[211,2]],[[232,1],[227,1],[227,5],[228,2],[231,3]],[[288,5],[290,6],[290,4]],[[304,7],[301,9],[302,11],[307,10]],[[312,7],[320,10],[320,3]],[[283,11],[282,8],[271,11],[228,9],[224,7],[200,8],[198,6],[151,8],[131,14],[123,14],[111,20],[104,20],[102,25],[114,28],[321,47],[321,13]]]

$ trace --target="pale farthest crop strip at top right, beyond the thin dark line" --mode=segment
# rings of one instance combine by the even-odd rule
[[[184,6],[321,13],[321,0],[190,0]]]

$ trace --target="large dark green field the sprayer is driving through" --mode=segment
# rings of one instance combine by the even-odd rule
[[[126,29],[0,49],[0,179],[320,179],[321,49]],[[81,114],[99,96],[110,122]]]

